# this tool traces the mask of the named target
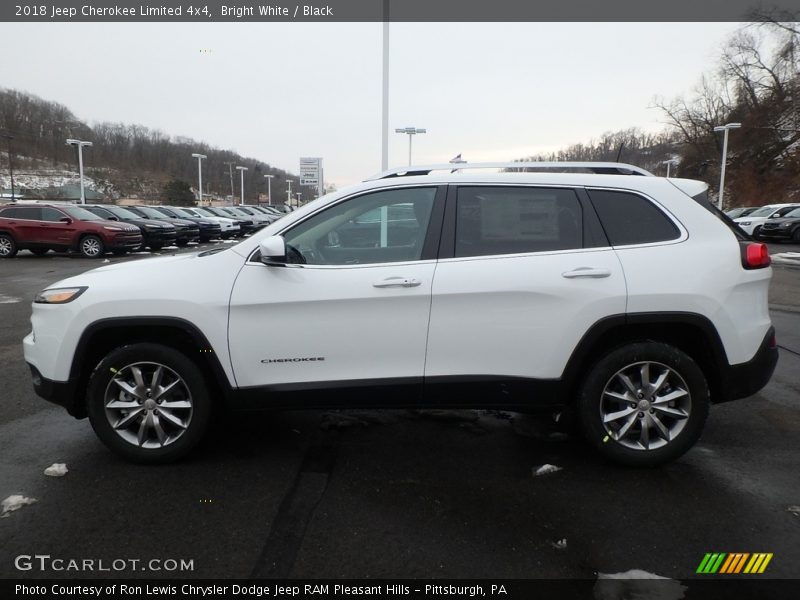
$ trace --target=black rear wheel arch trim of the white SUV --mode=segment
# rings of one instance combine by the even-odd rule
[[[614,315],[595,323],[581,338],[564,368],[561,380],[568,404],[574,402],[585,372],[599,356],[632,342],[670,344],[688,354],[705,375],[712,402],[727,395],[721,374],[728,368],[725,347],[713,323],[689,312],[652,312]]]

